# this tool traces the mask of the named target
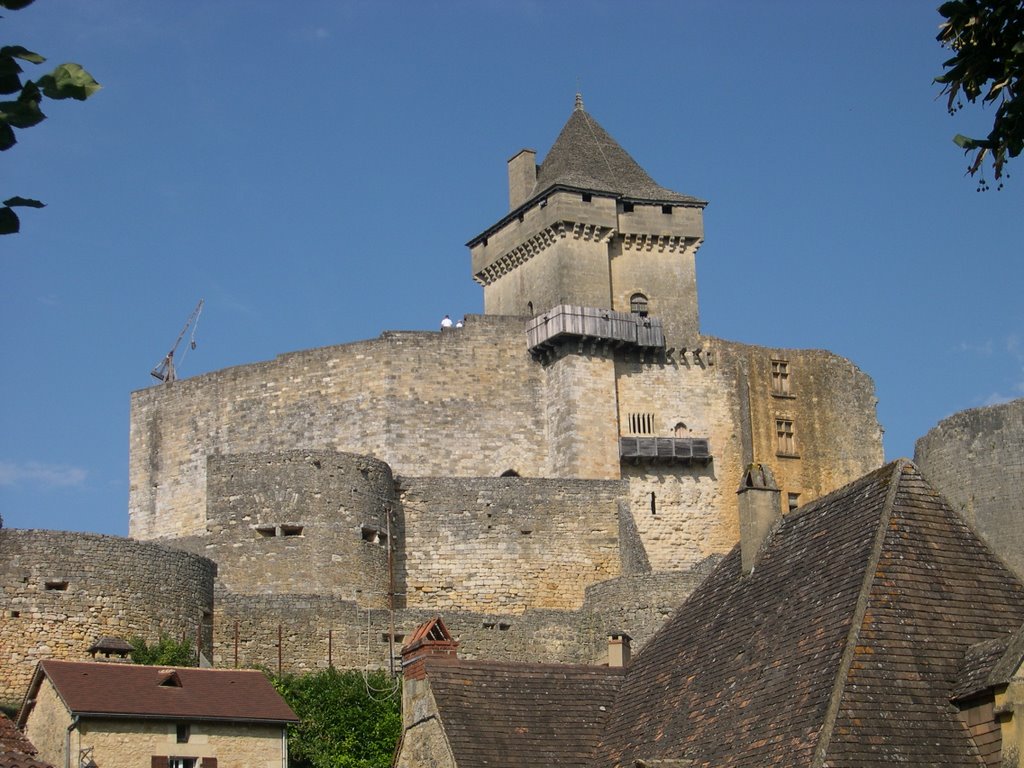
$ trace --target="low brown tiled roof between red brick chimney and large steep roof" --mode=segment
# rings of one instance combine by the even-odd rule
[[[459,768],[589,766],[622,669],[427,659]]]

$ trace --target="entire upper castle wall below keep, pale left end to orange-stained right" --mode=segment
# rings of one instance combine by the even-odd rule
[[[473,315],[462,329],[386,333],[135,392],[131,535],[207,536],[224,504],[210,498],[221,492],[209,457],[343,451],[410,477],[625,479],[652,567],[679,569],[736,541],[734,492],[755,458],[799,504],[882,462],[872,382],[838,355],[705,337],[699,353],[588,346],[540,362],[524,328]],[[711,461],[623,459],[627,435],[706,439]],[[263,496],[287,508],[295,493],[305,492]]]

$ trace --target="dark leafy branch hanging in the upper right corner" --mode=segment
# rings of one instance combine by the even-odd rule
[[[949,114],[962,110],[965,98],[996,104],[988,136],[957,134],[953,141],[966,154],[974,153],[968,173],[973,176],[990,157],[998,180],[1007,160],[1024,148],[1024,0],[950,0],[939,13],[946,20],[936,39],[955,53],[935,78],[948,97]],[[979,189],[986,188],[982,176]]]

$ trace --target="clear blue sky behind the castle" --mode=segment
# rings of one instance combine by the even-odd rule
[[[0,156],[0,515],[127,532],[131,391],[482,310],[464,247],[505,162],[588,111],[710,201],[705,333],[827,348],[889,458],[1024,395],[1024,163],[976,191],[932,78],[938,0],[37,0],[0,40],[86,67]],[[48,71],[36,68],[38,74]],[[1021,178],[1017,177],[1021,174]]]

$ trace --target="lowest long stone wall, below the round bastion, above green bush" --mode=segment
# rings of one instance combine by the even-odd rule
[[[711,562],[711,561],[710,561]],[[394,669],[401,645],[423,622],[440,615],[459,640],[462,658],[506,662],[604,664],[608,633],[627,632],[641,650],[706,575],[688,573],[622,577],[590,587],[579,610],[529,609],[522,613],[466,610],[359,608],[322,595],[217,593],[215,664],[278,669],[286,673],[340,669],[389,669],[394,626]],[[280,628],[280,635],[279,635]],[[236,648],[238,653],[236,653]]]

